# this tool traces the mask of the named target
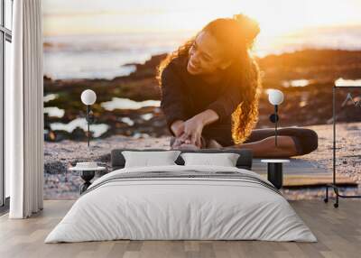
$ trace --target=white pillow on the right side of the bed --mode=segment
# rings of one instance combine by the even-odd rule
[[[204,166],[223,166],[236,167],[236,161],[239,154],[236,153],[181,153],[180,157],[184,160],[185,166],[204,165]]]

